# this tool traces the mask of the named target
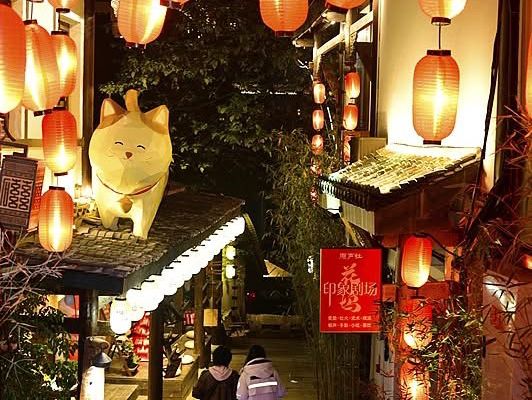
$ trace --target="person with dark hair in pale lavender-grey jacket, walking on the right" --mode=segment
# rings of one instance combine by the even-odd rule
[[[240,371],[236,398],[238,400],[278,400],[286,394],[279,374],[266,358],[262,346],[249,349],[246,363]]]

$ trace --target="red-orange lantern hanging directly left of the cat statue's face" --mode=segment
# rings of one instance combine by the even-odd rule
[[[76,119],[64,107],[55,107],[42,120],[44,160],[56,175],[66,174],[76,163]]]

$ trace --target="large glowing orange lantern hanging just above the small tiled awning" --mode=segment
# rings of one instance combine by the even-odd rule
[[[414,129],[424,143],[440,144],[456,120],[460,71],[450,50],[428,50],[414,70]]]

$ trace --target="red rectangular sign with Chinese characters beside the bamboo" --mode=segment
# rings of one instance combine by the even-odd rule
[[[320,331],[379,332],[381,250],[321,249]]]

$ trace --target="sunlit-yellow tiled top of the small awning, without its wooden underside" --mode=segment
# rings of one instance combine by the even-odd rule
[[[376,210],[478,162],[478,148],[388,145],[320,178],[320,189]]]

